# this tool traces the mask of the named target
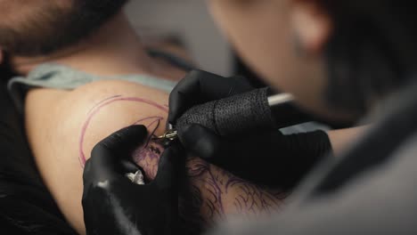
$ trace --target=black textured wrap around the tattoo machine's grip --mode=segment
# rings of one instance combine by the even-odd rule
[[[177,120],[176,128],[200,124],[220,136],[272,128],[274,119],[268,105],[267,93],[267,88],[262,88],[194,106]]]

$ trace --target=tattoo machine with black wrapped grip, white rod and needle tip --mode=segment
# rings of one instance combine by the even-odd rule
[[[156,139],[174,141],[183,126],[199,124],[219,136],[233,137],[266,128],[283,128],[308,120],[293,104],[289,93],[269,95],[269,88],[210,101],[188,109],[177,119],[175,128]]]

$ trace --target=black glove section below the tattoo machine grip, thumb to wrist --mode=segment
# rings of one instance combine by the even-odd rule
[[[288,190],[331,152],[326,133],[283,135],[278,130],[227,139],[200,125],[179,131],[185,149],[243,179]]]

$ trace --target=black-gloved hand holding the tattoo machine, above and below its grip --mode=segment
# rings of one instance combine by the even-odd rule
[[[194,105],[246,93],[253,88],[242,77],[219,77],[204,71],[192,71],[176,85],[169,96],[171,124]],[[199,125],[178,129],[186,150],[221,166],[244,179],[290,188],[331,151],[327,134],[282,135],[278,130],[242,134],[229,139]]]

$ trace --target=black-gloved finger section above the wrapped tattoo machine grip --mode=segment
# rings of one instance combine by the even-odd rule
[[[217,101],[253,90],[244,77],[221,77],[201,70],[193,70],[182,79],[169,95],[168,121],[176,124],[192,106]]]

